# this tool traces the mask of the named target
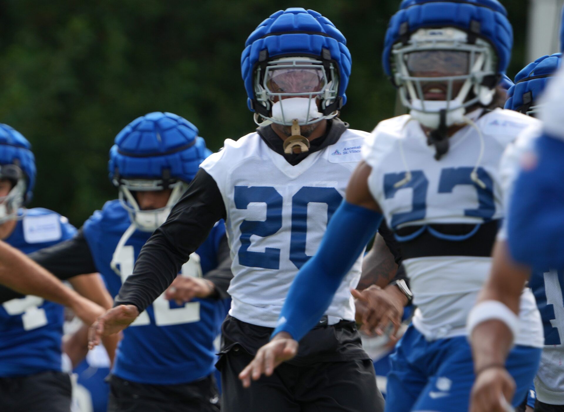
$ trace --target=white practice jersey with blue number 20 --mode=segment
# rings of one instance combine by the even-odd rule
[[[346,130],[337,143],[292,166],[254,132],[226,140],[220,152],[202,163],[217,183],[227,211],[234,276],[228,289],[231,316],[275,327],[294,277],[315,254],[329,218],[345,196],[367,136]],[[330,322],[354,320],[350,289],[358,284],[361,266],[359,258],[339,286],[325,312]]]

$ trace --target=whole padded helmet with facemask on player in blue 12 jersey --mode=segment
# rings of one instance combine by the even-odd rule
[[[118,133],[109,152],[109,178],[131,222],[141,231],[158,228],[186,191],[200,163],[209,155],[196,126],[173,113],[136,118]],[[135,192],[171,189],[165,207],[141,210]]]

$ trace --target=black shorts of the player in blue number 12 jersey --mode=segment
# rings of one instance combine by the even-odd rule
[[[108,412],[218,412],[213,375],[191,383],[151,385],[109,376]]]

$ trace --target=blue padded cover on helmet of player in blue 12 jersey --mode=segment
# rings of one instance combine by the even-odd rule
[[[209,156],[198,129],[174,113],[153,112],[120,131],[109,152],[109,178],[190,182]],[[165,172],[166,171],[166,172]]]

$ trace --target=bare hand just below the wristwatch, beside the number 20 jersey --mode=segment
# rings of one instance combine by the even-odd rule
[[[363,291],[351,289],[351,294],[356,299],[357,316],[356,321],[366,334],[384,334],[390,325],[393,332],[390,338],[394,338],[402,325],[403,302],[400,293],[394,295],[390,290],[384,290],[379,286],[372,285]]]

